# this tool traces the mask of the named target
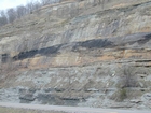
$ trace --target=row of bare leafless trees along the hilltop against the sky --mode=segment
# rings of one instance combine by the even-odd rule
[[[22,16],[26,14],[32,13],[32,11],[40,9],[41,6],[58,3],[64,0],[37,0],[37,1],[30,1],[26,5],[18,5],[16,8],[11,8],[8,10],[0,11],[0,27],[14,22],[17,18],[20,18]]]

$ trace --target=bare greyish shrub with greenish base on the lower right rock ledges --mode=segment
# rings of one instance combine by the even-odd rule
[[[118,81],[118,90],[111,96],[115,101],[123,101],[128,97],[129,88],[137,87],[137,77],[135,76],[135,68],[132,66],[122,66],[119,71],[120,79]]]

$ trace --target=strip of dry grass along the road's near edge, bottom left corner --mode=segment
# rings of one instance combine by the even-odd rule
[[[25,109],[12,109],[12,108],[0,107],[0,113],[67,113],[67,112],[25,110]]]

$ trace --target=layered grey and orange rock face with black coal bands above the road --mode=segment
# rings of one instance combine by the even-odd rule
[[[0,100],[150,108],[151,1],[72,0],[0,28]]]

